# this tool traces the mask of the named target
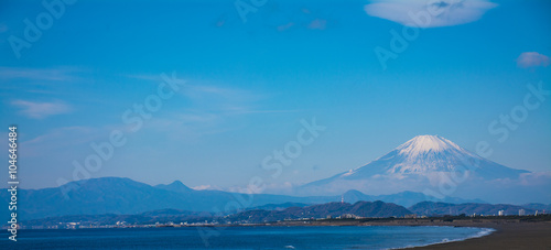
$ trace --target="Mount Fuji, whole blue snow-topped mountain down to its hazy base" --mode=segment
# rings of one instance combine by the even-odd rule
[[[364,166],[307,183],[296,193],[342,194],[357,189],[376,195],[411,191],[484,199],[498,192],[496,185],[521,182],[523,175],[530,174],[486,160],[445,138],[418,135]]]

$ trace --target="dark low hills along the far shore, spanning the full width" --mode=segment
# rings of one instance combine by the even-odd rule
[[[543,204],[531,204],[532,206],[551,206]],[[261,207],[236,211],[230,215],[219,215],[207,211],[187,211],[180,209],[151,210],[137,215],[74,215],[58,216],[43,219],[31,219],[22,221],[25,227],[55,227],[69,222],[78,222],[82,226],[116,225],[123,221],[123,225],[155,225],[159,224],[257,224],[273,222],[282,220],[320,219],[320,218],[388,218],[404,217],[407,215],[418,216],[462,216],[462,215],[498,215],[500,210],[505,216],[518,215],[520,209],[525,209],[526,215],[533,215],[534,210],[526,206],[515,206],[506,204],[447,204],[421,202],[406,208],[392,203],[357,202],[349,203],[326,203],[318,205],[306,205],[301,203],[271,204]],[[539,210],[542,214],[542,210]]]

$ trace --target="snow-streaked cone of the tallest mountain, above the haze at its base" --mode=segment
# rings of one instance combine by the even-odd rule
[[[365,180],[375,175],[423,175],[434,172],[464,173],[466,171],[488,180],[514,178],[521,173],[529,173],[485,160],[445,138],[419,135],[367,165],[306,184],[306,186],[338,180]]]

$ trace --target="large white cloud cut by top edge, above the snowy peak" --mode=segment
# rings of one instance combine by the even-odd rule
[[[435,28],[475,22],[495,7],[486,0],[391,0],[374,1],[364,10],[407,26]]]

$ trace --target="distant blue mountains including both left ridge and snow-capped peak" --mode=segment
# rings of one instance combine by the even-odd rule
[[[137,215],[159,209],[229,215],[262,206],[281,210],[341,200],[350,204],[381,200],[404,207],[421,202],[540,203],[528,208],[541,209],[547,206],[542,203],[551,202],[549,189],[551,178],[547,175],[500,165],[442,137],[420,135],[369,164],[300,186],[295,196],[196,191],[180,181],[151,186],[130,178],[101,177],[53,188],[19,189],[18,215],[23,220],[69,215]],[[8,203],[9,195],[2,192],[0,199]],[[8,219],[8,206],[1,206],[0,211]]]

